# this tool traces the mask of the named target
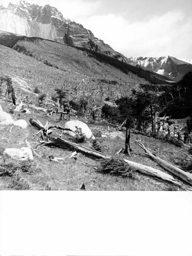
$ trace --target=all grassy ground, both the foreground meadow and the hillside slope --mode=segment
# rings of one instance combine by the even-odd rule
[[[91,93],[94,94],[96,91],[95,101],[101,104],[106,96],[126,96],[131,87],[137,87],[140,82],[145,81],[136,74],[130,72],[126,75],[110,64],[91,58],[86,55],[86,52],[51,41],[19,41],[16,48],[18,51],[22,49],[24,54],[0,45],[0,70],[3,76],[7,74],[13,77],[16,96],[21,96],[23,101],[25,96],[29,95],[31,103],[38,102],[38,96],[33,93],[35,87],[44,90],[51,96],[55,87],[63,85],[65,89],[70,90],[72,96],[75,94],[74,87],[80,95],[89,95],[89,99],[92,99]],[[26,56],[26,54],[30,56]],[[49,65],[44,64],[45,61]],[[54,68],[54,65],[58,68]],[[111,83],[111,81],[113,82]],[[5,92],[5,84],[2,85],[2,90]],[[7,113],[12,108],[6,101],[1,105]],[[14,119],[25,119],[28,123],[30,118],[38,119],[43,124],[47,120],[61,126],[64,126],[65,123],[65,121],[58,120],[58,115],[47,116],[46,113],[34,109],[31,109],[31,114],[17,112],[14,116]],[[80,119],[87,122],[84,117]],[[108,131],[107,125],[103,122],[91,122],[88,123],[88,126],[93,130],[96,139],[100,141],[103,153],[119,160],[126,158],[122,154],[116,154],[119,148],[124,146],[124,132],[113,130],[113,128]],[[29,125],[28,128],[21,129],[14,126],[11,133],[10,128],[11,125],[0,127],[0,154],[5,148],[25,146],[26,139],[34,148],[38,145],[38,140],[33,137],[37,132],[34,127]],[[53,131],[55,136],[58,136],[58,133],[67,139],[61,131]],[[107,138],[101,139],[101,134],[106,134]],[[136,143],[137,140],[142,140],[146,147],[151,148],[152,152],[172,163],[180,158],[188,157],[183,148],[177,148],[175,145],[142,135],[131,134],[133,157],[129,159],[137,163],[164,171],[143,154],[142,149]],[[93,140],[89,140],[82,145],[92,147],[92,142]],[[86,190],[176,189],[169,183],[139,173],[136,173],[135,179],[110,174],[104,175],[99,171],[100,160],[91,159],[83,154],[79,154],[77,160],[70,159],[72,151],[67,149],[41,147],[37,152],[41,155],[41,159],[35,157],[34,164],[31,164],[28,172],[23,172],[20,165],[13,161],[12,165],[16,166],[17,171],[11,176],[0,177],[0,189],[80,190],[83,183]],[[64,161],[50,162],[49,155],[63,157]],[[2,166],[4,164],[2,157],[0,164]],[[94,166],[98,170],[94,169]]]

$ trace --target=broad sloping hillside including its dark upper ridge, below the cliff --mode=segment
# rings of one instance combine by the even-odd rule
[[[0,44],[22,53],[22,55],[18,55],[16,51],[12,53],[12,50],[3,48],[7,52],[7,56],[4,54],[2,58],[2,72],[22,78],[27,83],[32,84],[32,88],[37,86],[43,89],[46,86],[50,91],[53,91],[53,82],[55,87],[59,87],[65,81],[68,86],[67,89],[73,91],[74,87],[81,87],[81,91],[83,91],[84,88],[87,90],[88,81],[89,93],[92,93],[92,89],[99,85],[103,88],[103,99],[108,96],[116,99],[119,96],[125,96],[132,88],[137,88],[139,84],[168,83],[165,80],[166,77],[133,67],[106,55],[76,49],[42,38],[27,38],[0,32]],[[16,70],[17,56],[23,59],[20,61],[23,72],[20,68]],[[43,66],[37,71],[36,67],[41,64],[35,64],[34,61],[43,63]],[[14,65],[15,62],[16,65]],[[32,62],[30,69],[27,67],[28,62]],[[10,69],[10,65],[14,67]],[[42,71],[39,72],[39,70]],[[37,76],[37,73],[41,73],[41,76]]]

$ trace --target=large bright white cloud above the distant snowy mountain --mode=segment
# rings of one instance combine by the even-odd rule
[[[84,25],[127,57],[192,58],[192,17],[186,18],[182,12],[167,12],[134,23],[114,14],[94,15]]]

